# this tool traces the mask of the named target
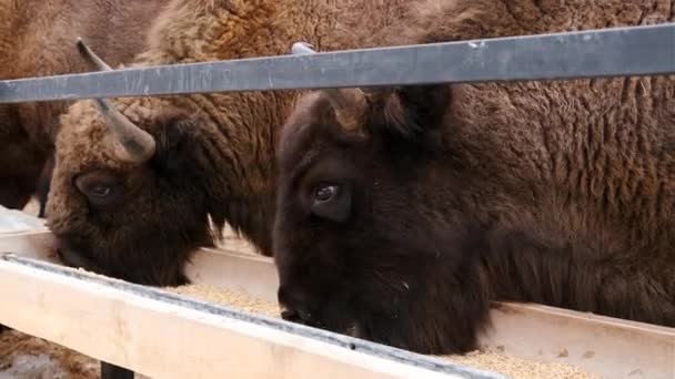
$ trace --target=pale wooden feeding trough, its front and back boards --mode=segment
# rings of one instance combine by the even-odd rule
[[[497,378],[281,319],[58,265],[49,232],[0,234],[0,322],[151,378]],[[202,248],[199,284],[275,301],[269,258]],[[496,304],[484,349],[574,365],[606,378],[675,377],[675,329]]]

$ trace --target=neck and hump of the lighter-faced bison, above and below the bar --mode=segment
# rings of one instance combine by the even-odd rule
[[[363,47],[366,35],[404,14],[407,0],[195,1],[171,3],[149,33],[147,64],[288,54],[296,41],[320,51]],[[206,42],[206,43],[204,43]],[[174,98],[179,107],[208,115],[202,125],[214,173],[205,185],[211,217],[241,232],[271,255],[274,142],[295,93],[250,92]],[[181,104],[182,103],[182,104]],[[187,106],[185,106],[187,105]]]

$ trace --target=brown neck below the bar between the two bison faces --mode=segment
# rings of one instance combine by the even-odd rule
[[[205,191],[214,224],[229,224],[266,256],[272,255],[275,203],[274,145],[292,93],[194,95],[205,113],[204,154],[212,173]]]

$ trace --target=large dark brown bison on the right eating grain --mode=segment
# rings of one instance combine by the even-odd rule
[[[389,33],[637,25],[674,6],[449,1]],[[492,299],[675,326],[675,76],[319,91],[278,164],[285,319],[433,354],[475,348]]]

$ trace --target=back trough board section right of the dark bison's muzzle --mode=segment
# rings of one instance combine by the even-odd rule
[[[501,303],[482,345],[508,356],[573,365],[605,378],[675,378],[675,328]]]

